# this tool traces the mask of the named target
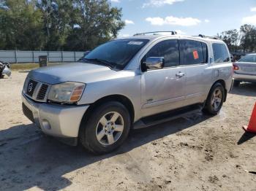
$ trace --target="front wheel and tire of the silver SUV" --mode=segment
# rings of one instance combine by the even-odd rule
[[[130,126],[127,108],[116,101],[107,102],[94,109],[89,120],[82,122],[80,143],[97,155],[112,152],[127,139]]]

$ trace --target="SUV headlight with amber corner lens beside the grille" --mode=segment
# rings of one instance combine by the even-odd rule
[[[85,84],[78,82],[64,82],[52,85],[48,99],[56,102],[73,103],[80,100],[85,87]]]

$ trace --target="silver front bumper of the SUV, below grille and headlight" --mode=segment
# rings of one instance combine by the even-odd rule
[[[59,138],[77,138],[80,122],[89,105],[63,106],[37,103],[22,93],[23,113],[45,134]]]

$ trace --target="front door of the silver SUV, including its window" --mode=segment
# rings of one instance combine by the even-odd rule
[[[151,69],[142,74],[142,115],[143,117],[166,112],[184,106],[184,85],[186,74],[180,67],[180,51],[177,39],[159,42],[143,57],[162,57],[162,69]]]

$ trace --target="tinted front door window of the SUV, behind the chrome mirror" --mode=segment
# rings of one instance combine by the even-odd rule
[[[143,61],[148,57],[163,57],[165,58],[165,67],[179,65],[179,50],[178,40],[165,40],[159,42],[144,56]]]

